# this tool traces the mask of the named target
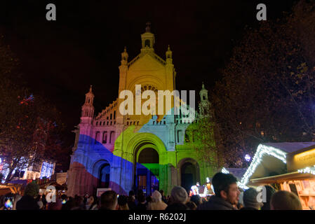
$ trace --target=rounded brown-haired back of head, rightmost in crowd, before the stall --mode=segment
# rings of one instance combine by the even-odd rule
[[[302,204],[294,193],[280,190],[272,195],[270,208],[272,210],[302,210]]]

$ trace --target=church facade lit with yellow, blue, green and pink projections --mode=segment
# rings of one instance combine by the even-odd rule
[[[170,47],[166,60],[156,55],[149,26],[141,40],[141,52],[134,59],[128,62],[126,48],[121,53],[118,93],[135,93],[135,85],[141,85],[142,92],[172,92],[176,72]],[[97,188],[112,188],[120,195],[140,189],[147,195],[154,190],[168,194],[173,186],[188,190],[196,182],[206,183],[217,169],[199,160],[191,144],[185,144],[188,139],[192,141],[187,127],[194,125],[196,117],[206,113],[210,105],[204,85],[199,94],[199,113],[194,116],[123,115],[119,106],[124,99],[120,97],[95,116],[91,86],[82,106],[81,122],[74,130],[67,195],[92,195]]]

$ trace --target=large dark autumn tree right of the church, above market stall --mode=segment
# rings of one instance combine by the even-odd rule
[[[234,153],[229,166],[263,142],[314,141],[314,3],[261,23],[246,28],[212,92],[218,146]]]

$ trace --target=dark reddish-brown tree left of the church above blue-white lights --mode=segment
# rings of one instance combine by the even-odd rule
[[[18,60],[3,39],[0,55],[0,155],[10,181],[14,170],[36,165],[49,151],[58,150],[62,123],[55,106],[15,82],[20,77]]]

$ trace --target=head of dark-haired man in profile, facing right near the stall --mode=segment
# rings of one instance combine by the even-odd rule
[[[240,192],[236,181],[235,176],[232,174],[223,174],[221,172],[215,174],[212,179],[215,196],[221,197],[231,204],[237,204]]]

